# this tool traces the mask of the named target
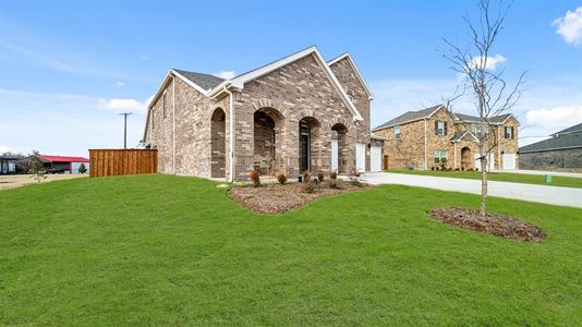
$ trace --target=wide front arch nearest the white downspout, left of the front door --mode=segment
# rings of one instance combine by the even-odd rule
[[[278,136],[283,116],[274,108],[262,108],[254,113],[254,169],[260,174],[275,174],[278,169]]]

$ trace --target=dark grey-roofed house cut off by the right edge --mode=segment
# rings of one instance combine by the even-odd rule
[[[582,123],[550,136],[520,147],[520,168],[582,168]]]

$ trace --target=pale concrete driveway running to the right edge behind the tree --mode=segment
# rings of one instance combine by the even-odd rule
[[[441,191],[481,194],[480,180],[390,172],[368,172],[363,180],[372,184],[401,184]],[[489,181],[488,191],[490,196],[582,208],[582,189]]]

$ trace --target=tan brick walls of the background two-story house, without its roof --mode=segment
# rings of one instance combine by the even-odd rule
[[[446,122],[445,135],[437,135],[435,132],[437,121]],[[505,138],[506,126],[513,128],[513,138]],[[497,146],[492,152],[495,158],[493,168],[502,167],[504,154],[517,154],[518,126],[519,122],[511,117],[505,124],[492,126],[489,130],[489,138],[497,140]],[[387,156],[385,162],[388,164],[385,169],[433,169],[438,167],[435,159],[437,152],[439,154],[446,152],[447,166],[451,169],[474,169],[475,164],[478,166],[478,162],[475,162],[478,145],[471,134],[451,142],[456,132],[471,131],[471,123],[454,120],[445,107],[425,119],[401,123],[400,140],[396,140],[395,128],[374,131],[375,135],[388,138],[384,143],[384,156]],[[516,155],[516,168],[518,168],[518,155]]]

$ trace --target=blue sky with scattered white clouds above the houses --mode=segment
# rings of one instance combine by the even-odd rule
[[[316,45],[350,52],[374,94],[372,126],[440,104],[460,81],[476,1],[0,0],[0,153],[88,156],[143,136],[167,72],[240,74]],[[490,57],[512,83],[520,146],[582,122],[582,1],[516,0]],[[454,111],[476,114],[470,99]]]

